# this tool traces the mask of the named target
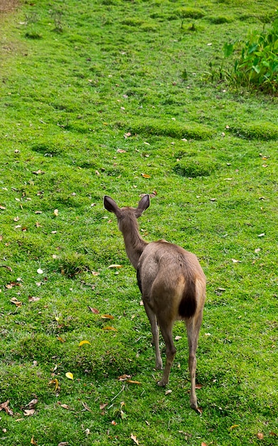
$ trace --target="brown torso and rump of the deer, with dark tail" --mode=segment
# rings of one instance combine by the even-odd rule
[[[145,247],[137,278],[143,299],[154,311],[162,302],[173,318],[193,316],[198,306],[196,286],[202,284],[205,288],[205,275],[196,255],[164,241]]]

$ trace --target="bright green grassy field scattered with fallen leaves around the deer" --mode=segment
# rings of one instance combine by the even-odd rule
[[[276,7],[26,0],[1,14],[1,446],[277,445],[278,101],[208,82],[224,43]],[[136,273],[103,208],[144,193],[142,236],[193,251],[208,279],[202,414],[181,322],[156,385]]]

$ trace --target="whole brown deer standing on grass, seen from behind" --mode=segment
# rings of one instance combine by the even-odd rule
[[[173,324],[185,322],[188,338],[188,368],[191,377],[190,405],[198,410],[196,398],[196,349],[205,304],[205,274],[195,254],[177,244],[161,239],[146,242],[139,232],[137,219],[149,207],[149,195],[141,197],[137,207],[119,207],[105,195],[104,207],[117,217],[119,231],[129,261],[137,270],[137,283],[151,324],[152,344],[157,370],[163,370],[159,350],[159,328],[166,345],[166,365],[158,385],[169,383],[176,347]]]

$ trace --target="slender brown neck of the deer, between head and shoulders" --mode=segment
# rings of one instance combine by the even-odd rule
[[[137,269],[139,258],[144,251],[147,242],[141,238],[137,222],[134,222],[134,224],[130,225],[129,227],[123,227],[121,230],[124,236],[127,256],[134,268]]]

